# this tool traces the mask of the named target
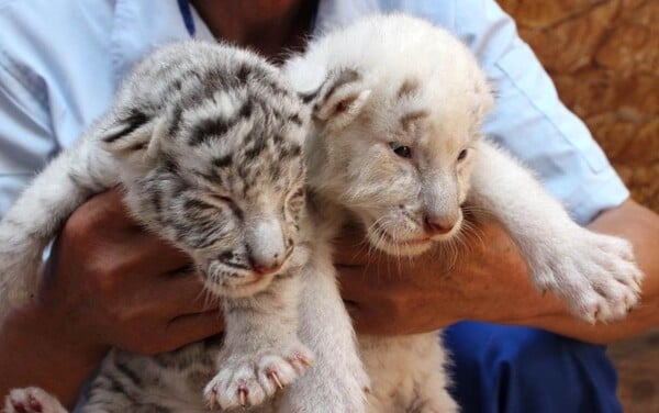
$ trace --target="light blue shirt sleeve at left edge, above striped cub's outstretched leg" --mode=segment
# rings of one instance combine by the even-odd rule
[[[45,88],[0,54],[0,216],[55,152]]]

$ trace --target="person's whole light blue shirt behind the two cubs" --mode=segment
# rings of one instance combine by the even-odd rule
[[[183,8],[185,9],[185,8]],[[495,85],[485,133],[533,168],[584,224],[628,191],[493,0],[321,0],[316,31],[378,11],[406,11],[448,29]],[[175,0],[0,0],[0,215],[34,174],[110,105],[144,54],[212,35]],[[188,23],[188,24],[186,24]]]

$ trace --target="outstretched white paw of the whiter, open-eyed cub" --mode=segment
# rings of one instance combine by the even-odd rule
[[[536,286],[552,291],[591,324],[626,316],[639,302],[644,277],[632,244],[582,227],[567,235],[549,254],[529,260]]]

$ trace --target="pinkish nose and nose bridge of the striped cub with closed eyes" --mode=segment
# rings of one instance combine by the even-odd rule
[[[257,221],[247,231],[247,247],[253,269],[261,275],[277,272],[283,265],[283,232],[277,220]]]

